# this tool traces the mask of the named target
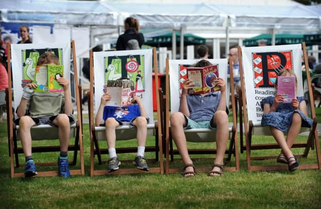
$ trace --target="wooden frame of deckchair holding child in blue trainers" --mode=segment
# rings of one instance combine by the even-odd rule
[[[8,63],[11,62],[11,45],[8,45]],[[71,42],[72,49],[72,57],[73,57],[73,68],[74,68],[74,79],[75,79],[75,91],[76,91],[76,104],[77,104],[77,121],[76,121],[76,136],[75,136],[75,144],[68,146],[68,151],[74,151],[74,157],[72,162],[69,164],[75,165],[77,162],[77,153],[78,150],[80,152],[80,169],[70,169],[71,175],[84,175],[85,167],[84,167],[84,156],[83,156],[83,140],[82,140],[82,123],[81,123],[81,109],[80,109],[80,100],[79,100],[79,89],[78,87],[78,74],[77,74],[77,62],[76,62],[76,52],[75,52],[75,42]],[[71,71],[70,71],[71,72]],[[8,78],[9,78],[9,86],[12,86],[12,72],[11,65],[8,65]],[[20,99],[20,98],[16,98]],[[14,124],[14,115],[13,115],[13,105],[12,105],[12,89],[6,89],[6,101],[7,101],[7,116],[8,116],[8,141],[9,141],[9,155],[11,161],[11,177],[22,177],[24,173],[15,172],[14,162],[16,161],[16,167],[25,166],[25,164],[19,164],[18,154],[24,153],[22,147],[18,147],[17,145],[17,129]],[[37,127],[32,127],[32,129]],[[58,129],[57,129],[58,130]],[[32,152],[57,152],[60,151],[60,146],[40,146],[40,147],[32,147]],[[15,159],[14,159],[15,155]],[[55,162],[47,162],[47,163],[36,163],[36,165],[57,165],[57,161]],[[58,176],[58,168],[55,171],[38,171],[37,176]]]

